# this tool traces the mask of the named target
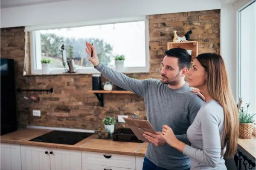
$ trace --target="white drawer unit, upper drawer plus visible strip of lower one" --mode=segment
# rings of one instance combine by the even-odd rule
[[[120,154],[81,152],[83,170],[126,170],[136,169],[136,157]],[[90,165],[89,165],[90,164]]]

